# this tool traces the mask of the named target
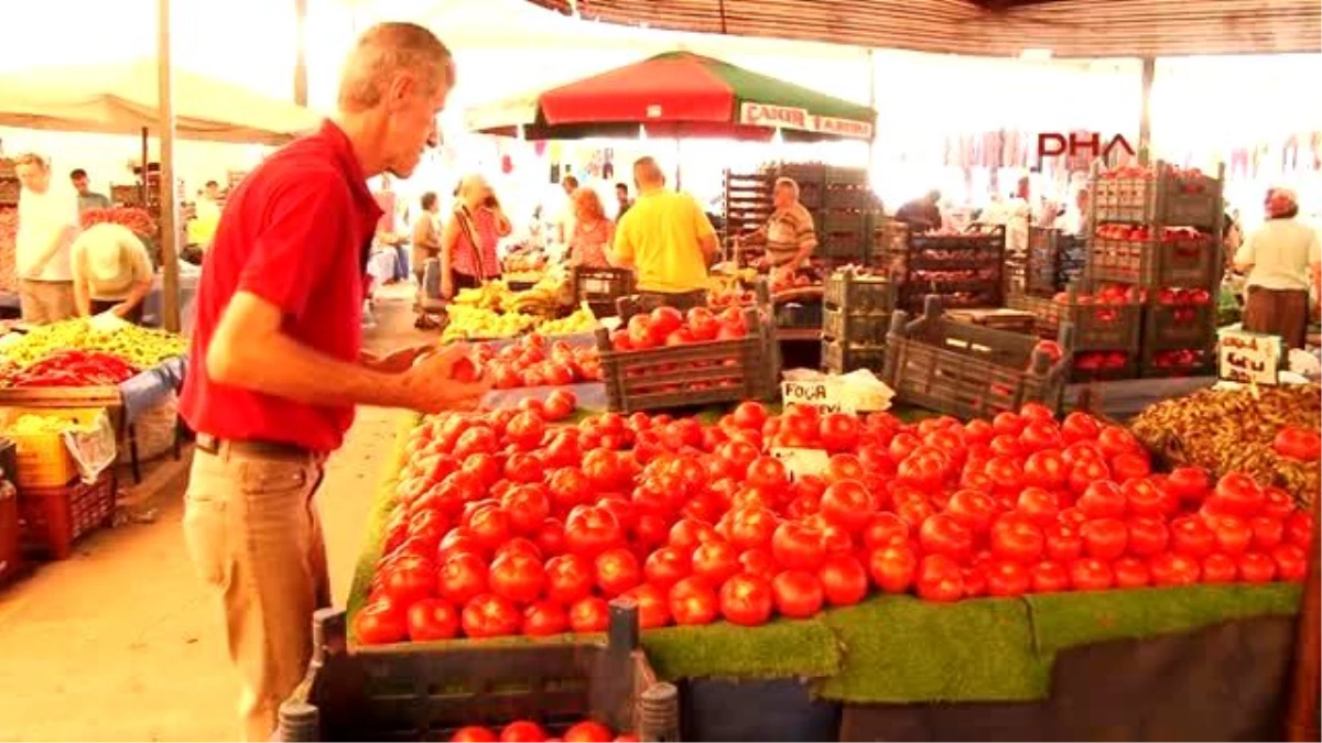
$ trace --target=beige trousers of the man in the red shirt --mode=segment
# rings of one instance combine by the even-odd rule
[[[275,731],[280,703],[312,657],[312,612],[330,606],[313,500],[321,464],[227,444],[193,455],[184,538],[198,576],[221,599],[245,743],[266,743]]]

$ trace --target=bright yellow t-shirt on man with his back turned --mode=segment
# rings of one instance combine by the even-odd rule
[[[668,189],[639,194],[615,229],[615,255],[633,264],[639,291],[707,288],[702,241],[717,234],[697,200]]]

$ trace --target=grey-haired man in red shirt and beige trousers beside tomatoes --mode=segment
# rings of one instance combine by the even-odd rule
[[[414,171],[452,83],[430,30],[369,29],[338,115],[234,190],[206,254],[180,401],[197,431],[184,535],[222,599],[249,743],[275,730],[307,670],[312,612],[330,602],[313,496],[354,406],[463,410],[486,390],[452,379],[463,348],[362,352],[364,271],[382,215],[366,180]]]

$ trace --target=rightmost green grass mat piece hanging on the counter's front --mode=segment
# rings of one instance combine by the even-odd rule
[[[1191,632],[1232,619],[1293,616],[1300,611],[1300,587],[1186,586],[1091,594],[1025,596],[1038,654],[1050,662],[1077,645]]]

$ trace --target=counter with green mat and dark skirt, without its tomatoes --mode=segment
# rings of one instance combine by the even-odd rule
[[[401,438],[350,615],[366,600],[405,456]],[[1087,740],[1099,730],[1231,743],[1280,730],[1298,606],[1298,586],[1284,583],[953,604],[882,595],[808,620],[646,631],[642,645],[661,678],[681,682],[685,740],[697,743]],[[484,643],[529,641],[547,640]]]

